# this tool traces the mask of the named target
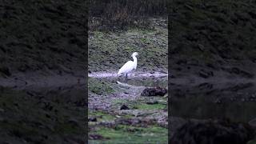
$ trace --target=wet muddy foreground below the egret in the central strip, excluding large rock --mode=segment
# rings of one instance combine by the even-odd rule
[[[143,97],[146,87],[167,87],[167,77],[89,78],[90,143],[167,142],[168,95]],[[126,135],[124,137],[123,135]]]

